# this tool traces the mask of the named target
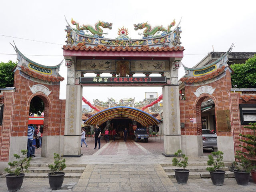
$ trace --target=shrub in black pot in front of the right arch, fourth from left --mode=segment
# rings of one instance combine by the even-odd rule
[[[223,185],[225,179],[225,171],[219,170],[224,167],[223,152],[212,152],[212,155],[208,155],[209,160],[207,164],[212,167],[207,167],[206,170],[210,172],[210,177],[214,185]]]

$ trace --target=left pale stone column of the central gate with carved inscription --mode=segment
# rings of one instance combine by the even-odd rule
[[[64,157],[81,156],[82,86],[66,86]]]

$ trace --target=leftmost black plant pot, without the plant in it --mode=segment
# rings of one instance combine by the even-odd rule
[[[20,190],[23,183],[24,176],[25,176],[24,173],[20,173],[18,176],[16,176],[15,174],[7,174],[6,184],[7,184],[8,191]]]

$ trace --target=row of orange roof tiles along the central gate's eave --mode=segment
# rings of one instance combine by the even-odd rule
[[[78,51],[78,50],[81,50],[81,51],[183,51],[184,50],[184,47],[182,46],[176,46],[176,47],[151,47],[148,46],[148,45],[144,45],[144,46],[141,46],[141,47],[129,47],[129,46],[125,46],[125,47],[122,47],[122,46],[116,46],[116,47],[106,47],[104,45],[98,45],[98,46],[94,46],[94,47],[91,47],[91,46],[70,46],[70,45],[64,45],[63,46],[63,49],[64,50],[75,50],[75,51]]]

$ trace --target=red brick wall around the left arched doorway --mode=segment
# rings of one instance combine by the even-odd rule
[[[29,86],[41,84],[14,73],[15,92],[5,92],[4,122],[0,126],[0,161],[8,161],[10,136],[27,136],[30,101],[34,96],[44,101],[43,136],[64,135],[65,100],[60,100],[60,85],[47,85],[52,92],[46,96],[42,92],[33,94]]]

